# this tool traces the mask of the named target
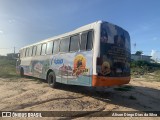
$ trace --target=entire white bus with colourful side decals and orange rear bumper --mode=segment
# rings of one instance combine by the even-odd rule
[[[130,57],[128,32],[97,21],[21,48],[17,71],[51,87],[122,85],[130,81]]]

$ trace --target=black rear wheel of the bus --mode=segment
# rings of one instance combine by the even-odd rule
[[[54,72],[50,72],[48,74],[47,80],[50,87],[55,88],[57,86],[56,76]]]

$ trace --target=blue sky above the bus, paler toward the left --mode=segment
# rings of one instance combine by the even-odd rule
[[[150,55],[160,51],[159,6],[160,0],[0,0],[0,54],[104,20],[130,33],[133,53]]]

